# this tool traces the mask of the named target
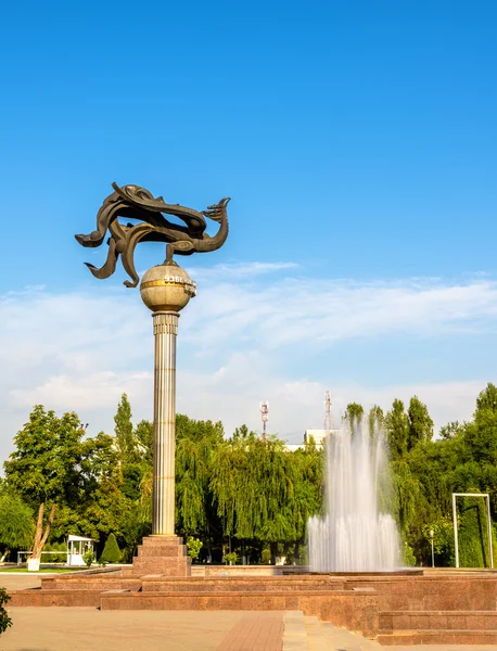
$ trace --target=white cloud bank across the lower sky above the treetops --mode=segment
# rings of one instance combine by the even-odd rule
[[[273,276],[263,283],[262,273]],[[418,394],[443,424],[469,418],[486,383],[466,368],[436,383],[405,376],[392,386],[360,379],[326,386],[326,373],[302,360],[354,339],[378,346],[393,334],[424,337],[428,346],[462,333],[471,345],[497,326],[497,282],[487,277],[331,281],[288,263],[219,266],[208,276],[192,271],[202,280],[199,296],[180,319],[178,410],[220,419],[228,432],[243,422],[258,427],[259,400],[268,399],[270,430],[300,439],[321,425],[326,388],[335,394],[335,413],[351,400],[387,408],[394,397]],[[0,458],[37,403],[76,410],[93,432],[112,430],[123,392],[137,419],[151,417],[152,320],[138,292],[103,283],[91,294],[10,292],[0,302]]]

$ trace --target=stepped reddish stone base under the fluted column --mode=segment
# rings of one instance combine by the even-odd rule
[[[148,536],[138,547],[138,556],[132,559],[132,569],[124,570],[127,575],[143,576],[190,576],[191,558],[187,546],[178,536]]]

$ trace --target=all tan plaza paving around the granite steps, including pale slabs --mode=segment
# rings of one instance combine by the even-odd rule
[[[0,586],[35,588],[30,574],[0,574]],[[281,611],[99,611],[9,608],[0,651],[381,651],[316,617]],[[285,629],[283,630],[283,625]],[[497,651],[497,646],[385,647],[392,651]]]

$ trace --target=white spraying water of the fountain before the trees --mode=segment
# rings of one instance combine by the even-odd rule
[[[387,572],[399,567],[397,527],[381,508],[390,487],[381,427],[354,419],[328,434],[326,513],[310,518],[307,527],[311,572]]]

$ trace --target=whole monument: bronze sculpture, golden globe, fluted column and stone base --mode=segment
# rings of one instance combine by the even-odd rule
[[[197,212],[179,204],[167,204],[138,186],[112,184],[114,192],[103,202],[97,215],[97,229],[88,235],[76,235],[82,246],[100,246],[106,233],[109,252],[100,268],[87,263],[99,279],[112,276],[120,256],[136,288],[139,277],[135,268],[135,248],[139,242],[164,242],[166,259],[152,267],[141,280],[143,303],[152,310],[155,340],[154,355],[154,448],[153,448],[153,514],[152,535],[143,539],[130,574],[187,576],[190,558],[175,535],[175,424],[176,424],[176,336],[179,311],[195,295],[195,283],[173,259],[177,255],[206,253],[222,246],[228,237],[228,197]],[[184,226],[164,215],[179,218]],[[218,232],[208,235],[206,219],[219,224]],[[123,224],[119,218],[138,220]]]

